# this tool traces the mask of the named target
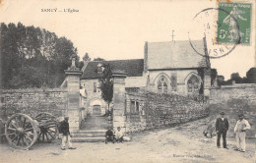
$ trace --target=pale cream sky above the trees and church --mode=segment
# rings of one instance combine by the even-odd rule
[[[86,52],[94,59],[144,58],[145,41],[202,39],[194,17],[202,10],[216,8],[214,0],[2,0],[0,22],[21,22],[45,28],[70,39],[82,58]],[[255,6],[255,5],[254,5]],[[42,12],[51,9],[52,12]],[[55,12],[55,9],[57,12]],[[79,12],[68,12],[76,10]],[[65,12],[65,11],[67,12]],[[255,8],[253,10],[255,16]],[[207,21],[213,21],[214,17]],[[255,18],[254,18],[255,20]],[[248,46],[237,45],[228,55],[211,59],[211,66],[229,79],[241,77],[255,67],[255,21]],[[213,29],[214,32],[214,29]]]

